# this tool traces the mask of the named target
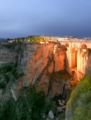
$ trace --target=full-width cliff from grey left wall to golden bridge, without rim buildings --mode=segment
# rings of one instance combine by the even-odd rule
[[[50,92],[52,95],[61,94],[66,81],[74,86],[85,73],[91,73],[91,50],[80,42],[79,46],[70,41],[44,44],[22,42],[14,50],[0,48],[1,61],[14,62],[17,57],[25,74],[21,81],[35,85],[47,95]]]

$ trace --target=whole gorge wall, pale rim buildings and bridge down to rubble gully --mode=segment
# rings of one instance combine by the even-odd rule
[[[44,41],[40,42],[29,39],[2,42],[0,65],[14,63],[23,71],[13,90],[16,97],[16,91],[34,86],[37,92],[43,91],[56,101],[57,111],[63,112],[70,92],[84,76],[91,76],[91,40],[42,38]]]

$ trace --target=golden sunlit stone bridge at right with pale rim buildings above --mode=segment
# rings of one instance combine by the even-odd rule
[[[77,72],[78,79],[81,75],[91,74],[91,40],[58,37],[47,39],[50,42],[56,41],[67,47],[69,68],[71,71]]]

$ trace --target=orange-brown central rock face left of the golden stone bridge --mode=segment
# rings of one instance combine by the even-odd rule
[[[31,60],[27,60],[26,79],[46,95],[51,92],[54,96],[62,92],[65,81],[69,80],[67,70],[66,47],[55,43],[44,44]]]

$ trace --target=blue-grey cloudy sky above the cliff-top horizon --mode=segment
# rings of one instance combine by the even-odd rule
[[[91,0],[0,0],[0,38],[91,37]]]

